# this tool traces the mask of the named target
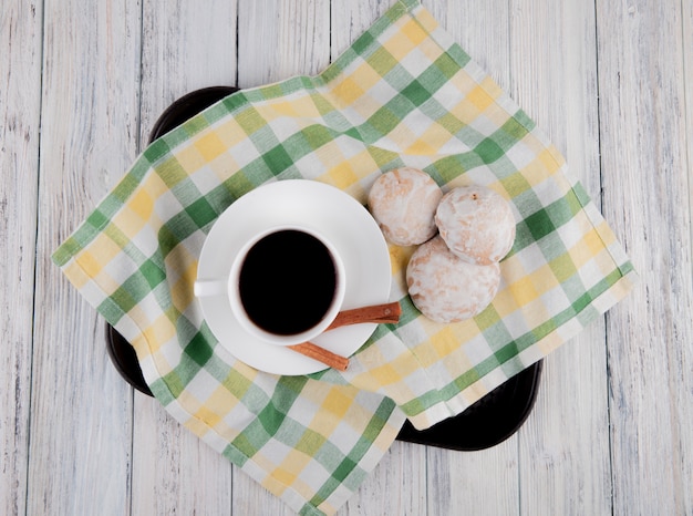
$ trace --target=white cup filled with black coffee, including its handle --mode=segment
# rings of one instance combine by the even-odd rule
[[[196,295],[218,295],[218,283],[198,280]],[[242,246],[226,285],[232,314],[244,329],[280,345],[322,333],[337,317],[344,290],[344,267],[334,246],[296,225],[270,228]]]

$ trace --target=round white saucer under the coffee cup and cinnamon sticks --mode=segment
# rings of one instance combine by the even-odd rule
[[[387,245],[371,214],[350,195],[309,179],[287,179],[256,188],[231,204],[207,236],[198,279],[228,277],[246,241],[279,224],[310,225],[325,235],[344,264],[346,291],[342,309],[389,301],[391,265]],[[226,293],[200,297],[203,314],[219,344],[238,360],[275,374],[309,374],[322,362],[281,345],[258,340],[234,318]],[[354,353],[377,324],[338,328],[313,342],[343,357]]]

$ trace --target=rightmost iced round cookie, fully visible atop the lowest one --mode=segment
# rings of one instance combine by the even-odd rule
[[[515,241],[510,205],[485,186],[461,186],[445,194],[435,223],[447,247],[472,264],[500,261]]]

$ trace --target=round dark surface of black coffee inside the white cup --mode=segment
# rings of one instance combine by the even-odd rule
[[[293,229],[260,239],[240,269],[240,300],[248,317],[265,331],[281,336],[320,322],[335,287],[329,249],[312,235]]]

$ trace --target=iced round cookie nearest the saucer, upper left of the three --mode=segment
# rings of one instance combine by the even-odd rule
[[[369,208],[385,238],[413,246],[436,233],[434,216],[443,190],[423,171],[403,167],[380,176],[369,192]]]

